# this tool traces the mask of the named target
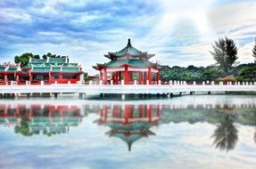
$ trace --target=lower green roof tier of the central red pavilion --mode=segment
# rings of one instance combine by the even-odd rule
[[[107,68],[116,68],[116,67],[121,67],[125,64],[127,64],[130,67],[136,67],[136,68],[148,68],[155,65],[154,63],[148,60],[125,59],[125,60],[111,60],[108,63],[99,64],[99,66],[107,67]]]

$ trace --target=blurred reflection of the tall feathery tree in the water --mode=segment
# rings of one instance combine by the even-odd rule
[[[235,149],[238,140],[238,131],[233,123],[234,120],[232,119],[232,115],[226,114],[214,131],[211,137],[214,138],[213,144],[216,149],[226,151]]]

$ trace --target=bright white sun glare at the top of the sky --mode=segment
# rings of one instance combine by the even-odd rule
[[[161,34],[167,35],[178,21],[189,20],[200,34],[206,35],[211,31],[207,12],[213,2],[214,0],[161,0],[162,15],[158,29]]]

